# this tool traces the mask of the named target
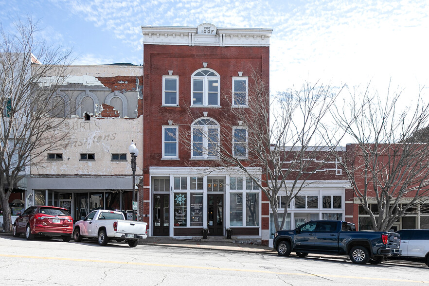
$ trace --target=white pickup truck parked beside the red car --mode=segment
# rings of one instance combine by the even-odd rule
[[[146,232],[145,222],[125,220],[121,212],[96,210],[76,222],[73,238],[77,242],[84,237],[98,238],[99,245],[107,245],[112,239],[125,240],[130,247],[136,247],[139,239],[147,237]]]

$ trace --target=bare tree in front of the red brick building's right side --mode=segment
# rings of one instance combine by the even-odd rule
[[[234,100],[243,104],[223,111],[214,109],[214,113],[223,112],[217,116],[219,126],[206,131],[198,123],[182,126],[179,141],[191,152],[197,150],[218,159],[201,161],[201,167],[239,170],[251,179],[268,197],[277,231],[285,225],[290,201],[314,182],[314,173],[328,163],[318,127],[341,89],[334,90],[319,83],[307,83],[299,90],[270,97],[268,84],[254,71],[249,78],[246,103],[244,94],[236,93]],[[225,97],[232,104],[232,92]],[[195,121],[198,116],[189,109],[189,118]],[[193,166],[196,164],[192,162]],[[286,204],[281,222],[277,211],[280,191],[282,204]]]

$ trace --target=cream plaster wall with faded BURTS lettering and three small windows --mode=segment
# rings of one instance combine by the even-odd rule
[[[42,165],[31,168],[32,176],[132,175],[128,152],[131,141],[140,151],[136,175],[143,173],[143,116],[136,119],[91,118],[89,121],[66,119],[62,130],[58,131],[70,132],[70,143],[64,150],[49,153],[62,153],[63,161],[48,161],[48,152],[45,152],[41,155]],[[95,154],[95,161],[79,161],[80,153]],[[127,161],[111,161],[112,153],[126,153]]]

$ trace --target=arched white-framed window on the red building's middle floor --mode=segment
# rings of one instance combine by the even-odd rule
[[[192,158],[215,158],[218,155],[219,124],[208,117],[192,124]]]

